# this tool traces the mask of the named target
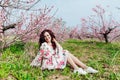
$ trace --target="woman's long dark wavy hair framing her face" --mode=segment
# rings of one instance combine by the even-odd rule
[[[54,33],[53,33],[51,30],[49,30],[49,29],[45,29],[45,30],[43,30],[43,31],[41,32],[40,38],[39,38],[39,49],[40,49],[41,44],[44,43],[44,42],[46,42],[46,41],[45,41],[45,37],[44,37],[45,32],[48,32],[48,33],[50,34],[53,49],[56,49],[56,44],[55,44],[55,42],[53,41],[53,38],[55,38],[55,35],[54,35]]]

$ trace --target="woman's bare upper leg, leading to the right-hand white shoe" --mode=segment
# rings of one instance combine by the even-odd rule
[[[87,66],[86,66],[84,63],[82,63],[77,57],[75,57],[74,55],[72,55],[72,54],[71,54],[69,51],[67,51],[67,50],[66,50],[66,52],[67,52],[67,55],[70,56],[70,58],[72,59],[72,61],[73,61],[75,64],[77,64],[78,66],[82,67],[83,69],[86,69],[86,68],[87,68]]]

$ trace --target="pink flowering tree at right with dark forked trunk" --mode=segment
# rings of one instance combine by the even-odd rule
[[[106,43],[120,36],[120,24],[112,18],[112,15],[106,15],[106,11],[101,6],[93,8],[96,15],[84,19],[83,27],[88,27],[88,32],[95,38],[105,40]]]

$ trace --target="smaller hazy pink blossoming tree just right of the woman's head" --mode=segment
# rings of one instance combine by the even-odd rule
[[[64,41],[69,38],[69,28],[61,18],[54,19],[49,28],[55,33],[58,41]]]

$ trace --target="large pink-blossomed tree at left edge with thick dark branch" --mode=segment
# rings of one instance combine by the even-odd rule
[[[0,48],[16,40],[35,37],[38,28],[49,24],[51,8],[35,9],[40,0],[0,0]],[[17,14],[17,15],[16,15]],[[11,30],[12,29],[12,30]]]

